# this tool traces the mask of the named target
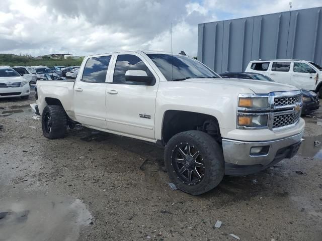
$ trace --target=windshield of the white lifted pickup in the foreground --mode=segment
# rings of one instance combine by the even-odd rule
[[[215,72],[199,61],[187,57],[169,54],[147,54],[168,81],[189,78],[220,78]]]

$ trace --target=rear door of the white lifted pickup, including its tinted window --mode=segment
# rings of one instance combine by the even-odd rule
[[[90,57],[79,72],[73,90],[76,120],[106,129],[106,86],[113,55]]]

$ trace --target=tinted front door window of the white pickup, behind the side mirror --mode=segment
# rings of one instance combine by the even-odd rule
[[[146,85],[146,83],[143,82],[140,83],[126,80],[125,72],[127,70],[144,70],[147,76],[153,76],[152,72],[148,69],[148,67],[139,57],[132,54],[121,54],[117,56],[114,69],[113,83]],[[155,83],[155,79],[149,85],[153,85],[153,83]]]

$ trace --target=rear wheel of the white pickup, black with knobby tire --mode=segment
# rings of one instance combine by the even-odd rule
[[[66,136],[67,117],[61,105],[47,105],[41,118],[42,132],[48,139]]]

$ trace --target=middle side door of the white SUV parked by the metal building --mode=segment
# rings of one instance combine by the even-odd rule
[[[273,62],[270,71],[269,77],[276,82],[284,83],[284,84],[292,84],[291,83],[291,75],[290,75],[290,66],[291,62]]]

